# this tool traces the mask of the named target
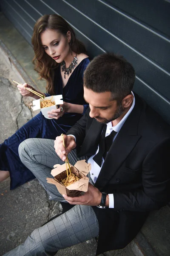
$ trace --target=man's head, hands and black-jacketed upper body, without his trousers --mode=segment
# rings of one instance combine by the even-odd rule
[[[64,198],[70,204],[96,206],[102,192],[107,194],[106,209],[93,207],[99,221],[98,249],[102,252],[125,247],[139,232],[149,211],[170,200],[170,127],[132,92],[134,80],[133,67],[121,56],[103,54],[94,58],[84,74],[89,110],[67,133],[74,135],[76,142],[65,135],[67,154],[77,147],[78,156],[90,157],[94,186],[81,197]],[[95,155],[102,146],[105,126],[105,136],[112,130],[116,133],[110,138],[113,143],[104,153],[105,160],[99,155],[97,164]],[[60,137],[55,149],[65,160]]]

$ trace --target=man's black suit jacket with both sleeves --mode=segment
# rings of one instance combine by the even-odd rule
[[[150,210],[170,200],[170,126],[135,94],[136,103],[105,158],[95,186],[114,194],[113,209],[93,207],[99,221],[97,254],[125,247]],[[90,110],[68,131],[78,156],[95,154],[103,125]]]

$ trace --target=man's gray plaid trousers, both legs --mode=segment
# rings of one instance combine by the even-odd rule
[[[27,139],[20,144],[19,155],[50,198],[64,202],[65,199],[59,194],[56,186],[46,182],[46,177],[53,177],[51,169],[54,164],[64,163],[54,150],[54,140]],[[77,160],[84,159],[77,158],[75,150],[71,151],[68,158],[72,165]],[[92,239],[98,233],[99,224],[92,207],[75,205],[69,211],[34,230],[23,244],[4,256],[54,256],[58,250]]]

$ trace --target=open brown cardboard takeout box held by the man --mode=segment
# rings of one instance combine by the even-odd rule
[[[86,177],[86,175],[91,170],[91,164],[86,163],[85,160],[80,160],[77,161],[77,163],[74,166],[70,164],[70,169],[72,173],[74,173],[78,178],[80,178],[75,183],[66,187],[61,183],[61,181],[65,177],[67,177],[65,163],[62,165],[54,165],[54,169],[52,169],[51,171],[51,175],[53,175],[54,179],[47,178],[47,182],[54,184],[57,187],[59,193],[62,195],[65,194],[71,197],[75,197],[79,196],[82,192],[87,192],[89,178]]]

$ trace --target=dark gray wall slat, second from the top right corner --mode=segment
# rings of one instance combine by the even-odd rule
[[[111,6],[108,7],[101,2],[96,4],[96,0],[85,0],[84,4],[79,0],[66,0],[65,2],[71,4],[73,8],[76,7],[125,43],[170,71],[168,58],[170,40],[160,37],[152,27],[148,28],[141,24],[140,20],[127,17],[124,12],[121,13],[116,8],[112,9]],[[94,8],[90,8],[91,5]],[[107,15],[103,15],[104,13]]]

